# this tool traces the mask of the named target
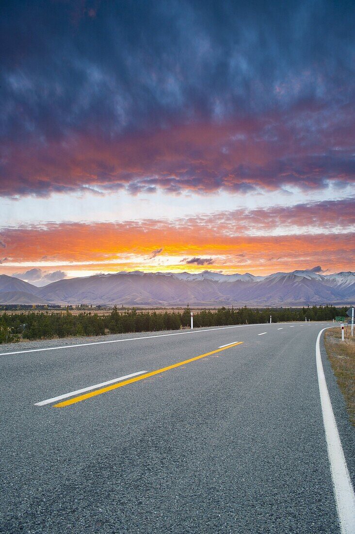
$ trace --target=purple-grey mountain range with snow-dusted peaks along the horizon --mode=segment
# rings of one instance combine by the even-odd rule
[[[298,270],[269,276],[132,271],[63,279],[43,287],[0,275],[1,304],[285,307],[354,301],[355,273],[350,271],[325,275]]]

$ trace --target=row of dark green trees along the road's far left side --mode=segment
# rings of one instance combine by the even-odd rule
[[[241,324],[273,323],[283,321],[332,320],[336,316],[345,316],[346,308],[334,306],[312,306],[309,308],[219,308],[194,312],[194,327],[226,326]],[[52,339],[53,337],[98,336],[128,332],[154,332],[159,330],[177,330],[190,326],[191,309],[183,311],[165,311],[163,313],[137,311],[136,309],[120,312],[115,306],[106,316],[83,311],[77,315],[69,307],[61,313],[28,311],[12,315],[0,314],[0,343],[12,343],[20,340]]]

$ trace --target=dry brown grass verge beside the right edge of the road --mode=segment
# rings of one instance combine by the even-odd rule
[[[349,417],[355,426],[355,336],[351,337],[350,326],[345,327],[342,341],[341,328],[331,328],[325,333],[325,348],[348,407]]]

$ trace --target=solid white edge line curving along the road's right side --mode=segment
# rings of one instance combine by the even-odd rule
[[[327,328],[332,327],[328,326]],[[346,466],[344,451],[336,426],[320,355],[320,337],[322,332],[327,328],[323,328],[319,332],[315,343],[320,402],[341,532],[342,534],[353,534],[355,532],[355,494],[351,484],[348,466]]]

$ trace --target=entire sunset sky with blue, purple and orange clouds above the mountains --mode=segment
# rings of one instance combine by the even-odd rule
[[[16,0],[0,274],[354,270],[355,4]]]

